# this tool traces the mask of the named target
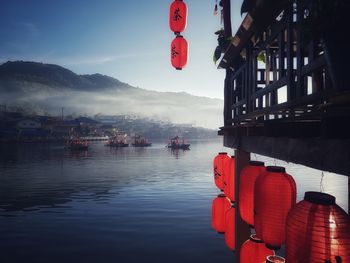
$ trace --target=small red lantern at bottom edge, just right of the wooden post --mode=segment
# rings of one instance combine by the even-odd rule
[[[250,239],[244,242],[240,251],[240,263],[261,263],[265,262],[266,257],[274,255],[275,251],[268,249],[264,242],[257,238],[256,235],[251,235]]]

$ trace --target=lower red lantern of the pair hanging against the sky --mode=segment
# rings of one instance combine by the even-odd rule
[[[181,70],[187,64],[188,43],[183,36],[176,36],[171,42],[171,64]]]

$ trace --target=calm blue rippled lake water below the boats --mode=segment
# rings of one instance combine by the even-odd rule
[[[211,228],[212,160],[233,151],[219,139],[164,146],[0,146],[0,262],[234,262]],[[320,171],[251,157],[286,166],[298,200],[320,190]],[[325,173],[322,186],[347,208],[346,177]]]

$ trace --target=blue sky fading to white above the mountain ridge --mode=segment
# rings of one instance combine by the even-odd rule
[[[189,62],[170,64],[168,26],[172,0],[2,0],[0,62],[31,60],[65,66],[79,74],[101,73],[140,88],[223,98],[224,70],[212,54],[220,16],[215,0],[187,0],[184,37]],[[241,0],[232,0],[233,32]]]

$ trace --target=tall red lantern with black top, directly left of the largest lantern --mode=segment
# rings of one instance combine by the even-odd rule
[[[279,249],[285,241],[289,210],[295,205],[295,181],[279,166],[267,166],[254,187],[254,226],[256,235],[269,248]]]

